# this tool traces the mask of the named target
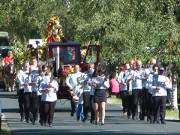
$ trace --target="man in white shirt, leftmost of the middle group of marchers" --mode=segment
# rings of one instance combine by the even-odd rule
[[[68,77],[66,78],[66,85],[70,89],[71,93],[71,116],[74,116],[74,113],[76,112],[77,108],[77,94],[78,94],[78,87],[79,82],[78,78],[81,78],[83,76],[83,73],[80,72],[80,67],[79,65],[75,65],[75,72],[72,74],[69,74]]]

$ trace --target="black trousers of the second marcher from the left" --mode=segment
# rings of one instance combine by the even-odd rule
[[[31,92],[24,93],[24,111],[25,111],[25,119],[29,121],[30,111],[31,111]]]

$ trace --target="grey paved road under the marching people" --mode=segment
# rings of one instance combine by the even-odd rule
[[[92,125],[89,121],[82,123],[76,121],[75,117],[70,117],[69,101],[58,101],[53,127],[42,127],[39,123],[32,125],[31,123],[20,122],[15,95],[0,92],[0,98],[12,135],[180,135],[180,122],[167,121],[166,125],[161,125],[148,124],[139,120],[128,120],[122,115],[120,105],[107,106],[107,115],[103,126]]]

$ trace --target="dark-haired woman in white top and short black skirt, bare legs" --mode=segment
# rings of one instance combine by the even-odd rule
[[[101,120],[101,125],[104,125],[105,106],[106,106],[106,89],[109,87],[109,79],[104,75],[105,71],[101,68],[97,69],[96,77],[92,79],[94,92],[94,109],[95,109],[95,124]]]

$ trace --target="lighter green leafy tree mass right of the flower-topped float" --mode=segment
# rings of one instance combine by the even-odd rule
[[[168,34],[177,33],[174,5],[174,0],[79,0],[72,8],[76,37],[99,42],[103,57],[113,63],[165,58]]]

